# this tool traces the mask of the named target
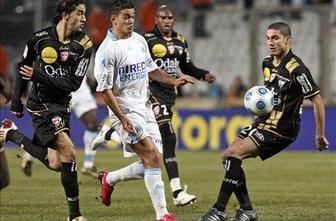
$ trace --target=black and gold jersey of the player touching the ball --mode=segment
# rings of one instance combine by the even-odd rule
[[[273,111],[255,120],[260,129],[294,139],[300,129],[302,103],[320,93],[309,69],[289,51],[278,65],[272,56],[263,60],[264,83],[274,93]]]

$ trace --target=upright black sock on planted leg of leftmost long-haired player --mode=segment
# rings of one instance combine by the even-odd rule
[[[77,162],[71,163],[62,162],[61,181],[69,206],[70,220],[81,216],[79,211],[79,190],[77,182]]]

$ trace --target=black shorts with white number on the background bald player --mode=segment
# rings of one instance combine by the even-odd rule
[[[152,104],[153,112],[159,126],[172,120],[172,104],[167,104],[164,100],[154,97],[153,95],[150,95],[149,100]]]

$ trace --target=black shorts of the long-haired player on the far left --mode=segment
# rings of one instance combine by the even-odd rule
[[[56,136],[70,131],[70,112],[64,107],[49,106],[47,110],[29,110],[32,117],[34,138],[33,143],[45,147],[56,146]]]

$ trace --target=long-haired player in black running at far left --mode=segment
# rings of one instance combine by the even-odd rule
[[[33,82],[27,101],[34,138],[17,130],[10,120],[0,129],[0,143],[12,141],[48,168],[60,171],[69,206],[69,221],[86,221],[79,209],[76,150],[69,136],[71,92],[76,91],[89,65],[92,42],[82,32],[84,0],[62,0],[55,25],[27,41],[12,96],[11,112],[23,116],[21,97]]]

